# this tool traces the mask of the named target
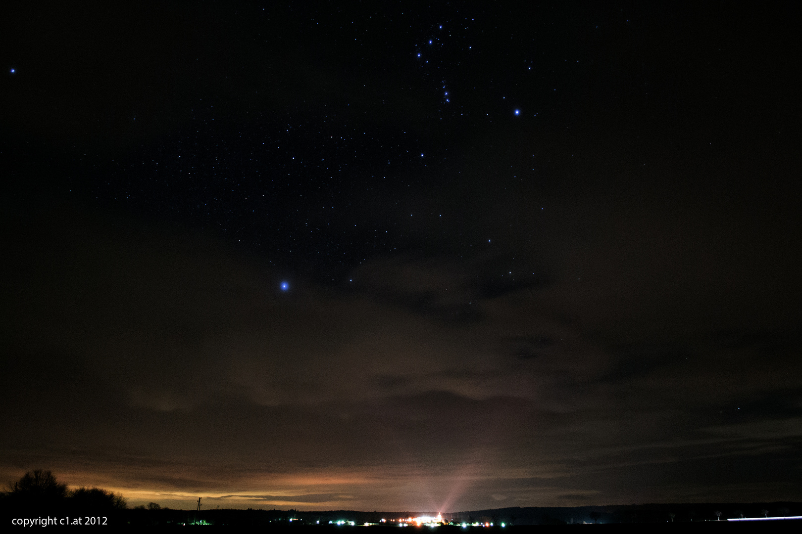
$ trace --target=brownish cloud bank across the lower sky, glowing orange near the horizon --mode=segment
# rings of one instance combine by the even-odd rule
[[[618,276],[585,289],[554,271],[490,296],[476,269],[404,256],[359,267],[356,288],[298,279],[290,296],[223,243],[149,232],[45,222],[6,249],[33,267],[14,271],[4,320],[10,472],[48,464],[176,503],[203,492],[323,508],[365,506],[379,487],[390,506],[414,481],[431,497],[410,490],[415,506],[470,508],[479,488],[586,503],[602,480],[625,502],[644,472],[660,481],[646,495],[669,499],[675,469],[796,455],[793,331],[715,319],[599,336],[600,321],[636,320],[611,322],[620,300],[591,297]],[[472,320],[444,322],[466,299]],[[258,492],[267,480],[280,492]]]

